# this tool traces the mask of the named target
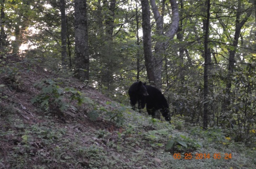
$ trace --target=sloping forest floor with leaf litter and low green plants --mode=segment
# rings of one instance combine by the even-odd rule
[[[219,128],[151,119],[37,61],[0,66],[0,168],[256,168]]]

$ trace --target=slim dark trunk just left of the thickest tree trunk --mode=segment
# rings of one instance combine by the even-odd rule
[[[67,68],[67,18],[66,18],[66,2],[60,0],[61,13],[61,65],[63,69]]]

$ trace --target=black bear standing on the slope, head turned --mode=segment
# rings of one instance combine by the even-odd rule
[[[164,95],[159,89],[154,86],[146,85],[146,83],[135,82],[129,88],[129,96],[131,106],[135,110],[136,103],[138,104],[138,111],[141,112],[146,105],[148,115],[155,118],[155,111],[162,112],[166,121],[170,121],[169,105]]]

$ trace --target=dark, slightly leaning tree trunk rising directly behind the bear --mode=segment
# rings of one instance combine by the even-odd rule
[[[155,85],[155,64],[152,53],[151,43],[151,24],[150,24],[150,5],[148,0],[141,0],[142,6],[142,31],[143,31],[143,50],[148,80]]]

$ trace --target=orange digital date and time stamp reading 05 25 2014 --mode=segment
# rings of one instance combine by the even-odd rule
[[[184,155],[182,155],[181,153],[174,153],[173,157],[174,159],[185,159],[185,160],[190,160],[190,159],[202,160],[202,159],[210,159],[210,158],[214,158],[216,160],[232,159],[231,153],[225,153],[224,155],[221,155],[220,153],[214,153],[213,155],[210,155],[209,153],[196,153],[194,155],[192,153],[184,153]]]

